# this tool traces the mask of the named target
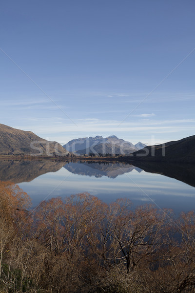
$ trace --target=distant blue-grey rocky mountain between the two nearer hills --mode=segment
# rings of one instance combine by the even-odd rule
[[[68,151],[78,155],[89,153],[128,155],[145,146],[146,145],[142,144],[141,142],[134,146],[128,141],[117,138],[116,135],[111,135],[105,138],[98,135],[96,137],[73,139],[63,147],[65,147]]]

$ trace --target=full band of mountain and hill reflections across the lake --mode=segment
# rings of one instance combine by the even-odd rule
[[[0,160],[0,180],[13,183],[30,182],[48,172],[56,172],[64,167],[73,174],[100,178],[116,178],[124,173],[142,170],[175,178],[195,187],[195,165],[175,163],[154,163],[134,161],[95,162],[95,161],[55,161],[55,160]]]

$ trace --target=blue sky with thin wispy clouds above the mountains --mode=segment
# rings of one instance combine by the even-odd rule
[[[0,41],[1,124],[64,144],[195,135],[194,0],[2,0]]]

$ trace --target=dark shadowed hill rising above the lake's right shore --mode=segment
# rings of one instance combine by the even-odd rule
[[[157,146],[146,146],[127,160],[195,163],[195,135]]]

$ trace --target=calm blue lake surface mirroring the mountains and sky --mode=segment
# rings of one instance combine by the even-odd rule
[[[195,166],[159,164],[0,161],[0,180],[19,184],[33,207],[87,191],[106,203],[126,197],[133,207],[155,203],[176,214],[195,209]]]

